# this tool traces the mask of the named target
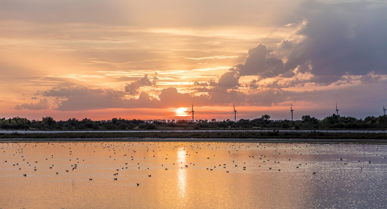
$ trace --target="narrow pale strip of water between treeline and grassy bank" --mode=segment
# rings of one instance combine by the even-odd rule
[[[132,131],[8,131],[8,130],[0,130],[0,133],[4,134],[12,134],[17,132],[19,134],[46,134],[46,133],[142,133],[142,132],[272,132],[272,130],[170,130],[170,131],[160,131],[160,130],[132,130]],[[280,130],[281,132],[312,132],[314,130]],[[387,131],[382,130],[316,130],[317,132],[329,132],[329,133],[387,133]]]

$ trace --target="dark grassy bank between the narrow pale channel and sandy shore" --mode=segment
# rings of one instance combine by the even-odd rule
[[[145,132],[145,133],[29,133],[2,134],[0,139],[64,139],[64,138],[194,138],[194,139],[381,139],[387,141],[385,133],[320,133],[320,132]],[[4,141],[4,140],[3,140]]]

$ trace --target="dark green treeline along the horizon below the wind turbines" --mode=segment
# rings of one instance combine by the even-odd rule
[[[108,121],[92,121],[85,118],[78,120],[70,118],[67,121],[55,121],[52,117],[42,120],[28,120],[22,117],[0,119],[2,129],[64,129],[64,130],[126,130],[126,129],[201,129],[201,128],[276,128],[276,129],[386,129],[387,116],[368,116],[365,119],[344,117],[333,114],[320,120],[315,117],[302,116],[301,120],[271,120],[269,115],[256,119],[240,119],[237,122],[229,119],[196,120],[127,120],[113,118]]]

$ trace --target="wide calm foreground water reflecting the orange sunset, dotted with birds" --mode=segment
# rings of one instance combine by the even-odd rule
[[[55,142],[0,148],[0,208],[387,206],[386,144]]]

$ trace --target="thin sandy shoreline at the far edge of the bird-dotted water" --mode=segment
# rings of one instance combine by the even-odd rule
[[[224,138],[10,138],[0,142],[92,142],[92,141],[152,141],[152,142],[275,142],[275,143],[364,143],[387,144],[384,139],[224,139]]]

